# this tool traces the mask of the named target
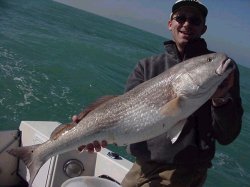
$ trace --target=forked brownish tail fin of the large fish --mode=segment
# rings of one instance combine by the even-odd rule
[[[40,159],[34,159],[35,150],[39,146],[40,144],[37,144],[32,146],[18,147],[7,151],[9,154],[21,159],[29,169],[30,173],[29,187],[31,187],[38,171],[44,164],[44,162],[41,161]]]

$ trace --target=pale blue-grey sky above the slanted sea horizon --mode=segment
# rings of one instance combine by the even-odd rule
[[[167,22],[175,0],[56,0],[171,39]],[[250,0],[203,0],[210,50],[250,67]]]

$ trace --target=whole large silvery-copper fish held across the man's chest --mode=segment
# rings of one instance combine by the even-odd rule
[[[99,100],[81,113],[77,125],[57,128],[43,144],[9,153],[25,162],[31,186],[50,157],[94,140],[127,145],[167,132],[174,143],[185,119],[211,98],[233,69],[233,61],[221,53],[189,59],[123,95]]]

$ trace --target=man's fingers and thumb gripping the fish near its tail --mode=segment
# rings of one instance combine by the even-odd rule
[[[79,121],[81,121],[81,119],[78,118],[77,115],[74,115],[72,117],[72,121],[74,123],[79,123]],[[89,153],[93,153],[94,151],[99,152],[101,151],[101,148],[105,148],[107,147],[108,143],[106,140],[103,140],[102,142],[99,141],[94,141],[93,143],[89,143],[87,145],[82,145],[80,147],[78,147],[78,151],[82,152],[84,150],[88,151]]]

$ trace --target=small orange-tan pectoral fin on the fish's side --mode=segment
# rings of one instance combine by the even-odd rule
[[[181,97],[178,96],[165,104],[160,112],[166,116],[175,116],[181,111]]]

